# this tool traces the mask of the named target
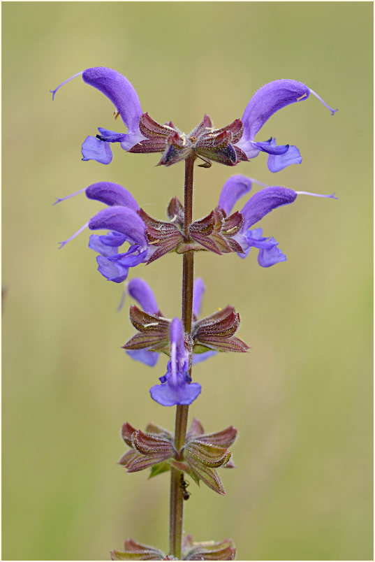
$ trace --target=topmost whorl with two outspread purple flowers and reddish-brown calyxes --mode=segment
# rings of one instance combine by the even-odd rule
[[[119,134],[99,127],[100,134],[97,137],[88,136],[85,139],[82,144],[83,160],[96,160],[101,164],[110,164],[112,161],[110,143],[120,143],[124,150],[130,152],[164,152],[159,164],[165,166],[185,159],[192,152],[205,161],[202,164],[204,167],[209,167],[212,159],[234,166],[241,160],[255,158],[260,151],[267,152],[268,168],[277,172],[291,164],[300,164],[302,157],[296,146],[277,146],[274,138],[265,142],[255,141],[256,134],[265,122],[279,109],[304,101],[310,94],[316,96],[332,115],[337,111],[302,82],[274,80],[252,96],[242,120],[235,120],[223,129],[213,129],[211,120],[205,115],[189,135],[184,135],[172,122],[160,125],[147,113],[143,113],[138,94],[131,82],[119,72],[105,66],[86,69],[68,78],[51,90],[52,99],[62,85],[80,75],[84,82],[100,90],[112,101],[116,116],[120,115],[128,128],[126,134]]]

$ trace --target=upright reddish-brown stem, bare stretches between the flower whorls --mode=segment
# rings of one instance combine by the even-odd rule
[[[195,157],[185,160],[184,186],[184,236],[189,238],[189,226],[193,220],[193,168]],[[182,324],[186,333],[191,332],[193,311],[194,252],[183,256],[182,269]],[[177,405],[175,421],[175,448],[181,451],[185,444],[186,426],[189,415],[188,405]],[[182,525],[184,520],[184,499],[180,488],[180,471],[171,468],[170,477],[170,556],[181,560]]]

